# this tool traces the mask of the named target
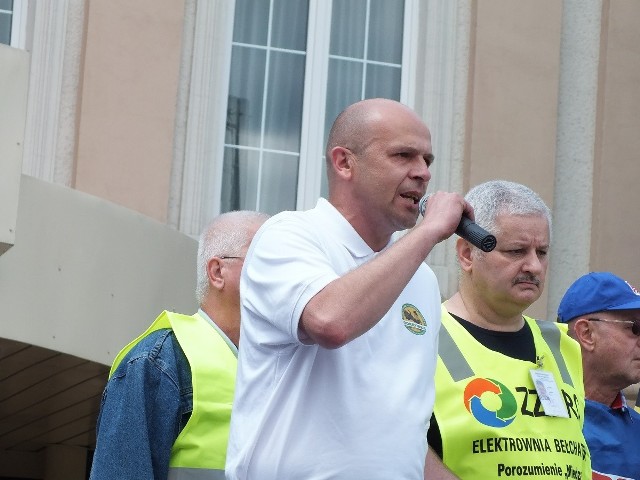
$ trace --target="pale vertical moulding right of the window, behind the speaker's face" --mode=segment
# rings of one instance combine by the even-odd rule
[[[471,2],[429,1],[420,12],[423,45],[420,69],[416,72],[416,110],[432,132],[436,161],[429,191],[462,192]],[[442,294],[453,294],[457,287],[455,237],[436,245],[427,263],[436,273]]]

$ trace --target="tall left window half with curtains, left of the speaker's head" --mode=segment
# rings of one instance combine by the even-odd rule
[[[236,2],[222,211],[295,209],[308,7],[301,0]]]

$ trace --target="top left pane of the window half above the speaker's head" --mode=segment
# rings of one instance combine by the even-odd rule
[[[330,54],[364,58],[366,19],[366,0],[333,0]]]

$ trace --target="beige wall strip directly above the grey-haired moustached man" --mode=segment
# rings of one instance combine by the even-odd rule
[[[464,190],[524,183],[553,207],[561,2],[475,2]],[[546,317],[547,292],[528,311]]]

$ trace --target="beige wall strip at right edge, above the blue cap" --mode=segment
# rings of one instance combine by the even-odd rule
[[[592,270],[612,270],[636,287],[640,287],[639,19],[640,2],[606,3],[591,232]]]

